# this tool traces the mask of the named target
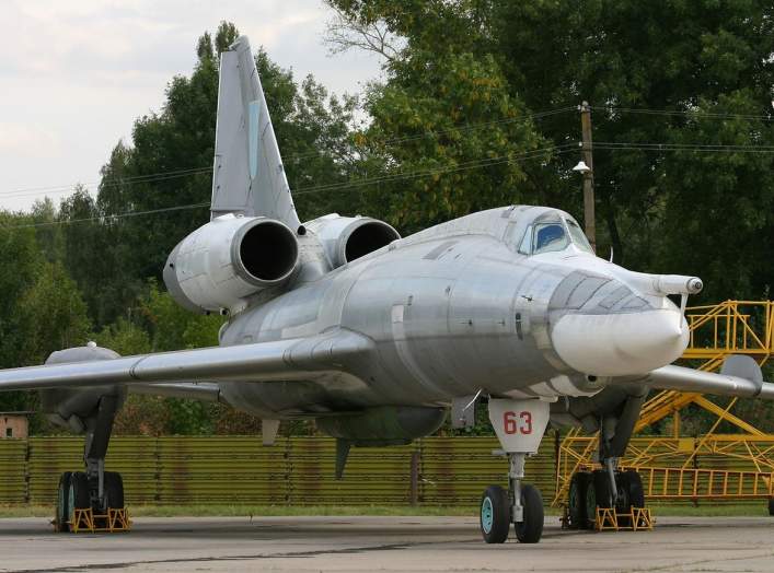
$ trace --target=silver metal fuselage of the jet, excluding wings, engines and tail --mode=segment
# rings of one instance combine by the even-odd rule
[[[647,372],[674,360],[685,342],[682,316],[666,296],[644,292],[648,281],[643,278],[651,276],[632,273],[573,245],[544,255],[518,252],[528,226],[546,213],[569,217],[546,208],[493,209],[425,230],[330,271],[315,237],[308,235],[302,245],[307,256],[291,290],[233,316],[220,343],[347,329],[368,337],[373,350],[368,360],[344,364],[344,372],[307,382],[220,383],[222,396],[264,418],[448,405],[478,390],[546,399],[590,396],[610,378],[607,372],[573,367],[557,353],[554,328],[565,317],[565,323],[577,318],[568,315],[596,320],[593,332],[569,330],[573,349],[605,328],[609,336],[632,330],[632,319],[657,326],[673,321],[678,334],[669,348],[656,349],[646,363],[632,364],[626,348],[610,350],[611,355],[605,354],[609,349],[600,350],[600,361],[621,359],[621,367],[633,369],[607,374]],[[600,326],[600,319],[605,324]],[[582,324],[570,326],[585,329]],[[638,329],[635,325],[634,331]],[[568,344],[565,330],[561,341]]]

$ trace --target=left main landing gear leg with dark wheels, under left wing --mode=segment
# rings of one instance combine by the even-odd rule
[[[120,473],[105,471],[105,454],[113,430],[117,400],[103,396],[93,417],[85,420],[83,461],[85,471],[65,471],[57,489],[57,531],[70,531],[77,510],[92,510],[106,515],[108,510],[124,508],[124,481]]]

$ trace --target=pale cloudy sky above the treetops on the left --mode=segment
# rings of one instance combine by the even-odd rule
[[[380,74],[376,56],[330,56],[321,0],[4,0],[0,55],[0,209],[58,204],[100,167],[164,87],[189,74],[196,40],[221,20],[263,45],[297,79],[358,93]],[[215,34],[213,34],[215,35]],[[67,189],[67,192],[62,192]]]

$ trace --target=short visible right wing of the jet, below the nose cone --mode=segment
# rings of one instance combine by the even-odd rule
[[[726,359],[719,374],[669,365],[654,370],[644,378],[629,378],[626,382],[640,382],[662,390],[774,400],[774,384],[763,382],[761,367],[750,356],[744,355],[731,355]]]

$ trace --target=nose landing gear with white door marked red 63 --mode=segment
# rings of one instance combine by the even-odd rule
[[[510,524],[522,543],[536,543],[543,535],[543,498],[534,486],[522,483],[524,461],[538,452],[548,423],[548,404],[540,400],[489,400],[489,420],[508,456],[508,490],[489,486],[481,499],[481,533],[487,543],[508,539]]]

